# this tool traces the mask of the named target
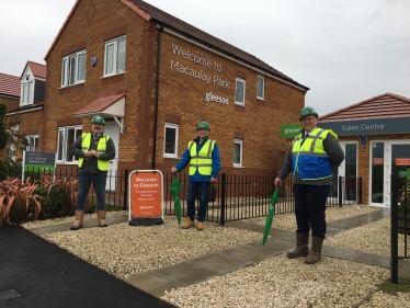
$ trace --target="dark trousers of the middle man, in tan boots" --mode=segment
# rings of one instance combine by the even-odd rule
[[[197,192],[200,192],[200,209],[197,215],[198,221],[204,221],[206,217],[206,209],[208,207],[208,189],[209,182],[189,182],[187,184],[187,217],[192,221],[195,219],[195,199]]]

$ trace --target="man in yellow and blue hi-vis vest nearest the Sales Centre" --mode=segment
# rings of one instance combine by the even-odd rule
[[[287,258],[306,256],[305,263],[315,264],[321,260],[321,248],[326,235],[326,201],[333,183],[333,169],[344,160],[338,135],[330,129],[318,127],[318,114],[312,107],[299,113],[304,127],[295,137],[286,160],[275,179],[275,186],[282,184],[292,172],[294,181],[296,248]],[[308,249],[311,229],[311,249]]]

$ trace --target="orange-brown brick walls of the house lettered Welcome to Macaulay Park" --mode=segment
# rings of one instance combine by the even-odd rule
[[[47,103],[44,128],[47,134],[45,139],[41,139],[44,140],[41,144],[43,150],[56,151],[59,125],[70,122],[82,123],[83,130],[90,128],[88,119],[73,116],[77,111],[100,95],[125,91],[126,133],[119,136],[118,169],[151,169],[153,159],[156,169],[169,170],[174,166],[178,159],[164,159],[162,152],[164,123],[169,118],[176,118],[180,121],[180,157],[189,139],[196,136],[197,123],[207,121],[212,126],[210,138],[215,139],[220,148],[224,172],[275,173],[278,152],[286,151],[288,146],[288,141],[280,138],[280,125],[298,121],[297,114],[304,106],[305,93],[265,77],[265,100],[259,101],[257,71],[162,32],[155,136],[158,31],[155,24],[145,21],[119,1],[79,2],[46,59]],[[127,37],[126,72],[102,78],[104,41],[123,34]],[[213,66],[204,67],[175,55],[172,44],[212,61]],[[61,57],[83,48],[87,48],[86,83],[60,89]],[[90,65],[92,57],[98,59],[94,68]],[[210,82],[176,71],[171,67],[171,60],[195,70],[203,70],[204,73],[212,76]],[[217,66],[214,66],[215,64]],[[224,85],[214,82],[214,76],[217,76],[218,80],[227,80],[228,87],[224,87],[226,82]],[[236,77],[246,80],[243,107],[235,105]],[[205,94],[209,92],[228,99],[229,104],[205,102]],[[243,138],[243,168],[234,169],[236,136]]]

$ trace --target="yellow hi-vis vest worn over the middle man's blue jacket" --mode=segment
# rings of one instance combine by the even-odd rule
[[[191,161],[190,161],[190,175],[194,175],[196,169],[201,175],[210,175],[212,173],[212,152],[215,147],[214,140],[206,140],[200,152],[196,152],[196,142],[194,140],[190,141],[187,149],[190,150]]]

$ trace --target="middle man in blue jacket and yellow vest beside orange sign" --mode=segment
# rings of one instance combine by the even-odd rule
[[[189,185],[186,194],[187,217],[182,228],[194,226],[195,199],[200,192],[200,209],[197,213],[196,229],[204,229],[204,220],[208,207],[209,183],[215,182],[220,170],[218,145],[208,137],[210,127],[207,122],[201,122],[196,127],[198,136],[187,144],[180,162],[171,168],[171,172],[180,172],[190,163]]]

